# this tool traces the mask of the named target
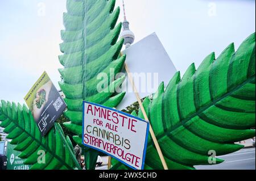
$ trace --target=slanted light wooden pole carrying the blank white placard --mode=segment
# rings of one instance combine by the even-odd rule
[[[121,53],[121,54],[122,54],[122,53]],[[142,104],[141,98],[139,97],[139,93],[138,93],[138,91],[137,91],[137,88],[135,87],[133,77],[131,76],[130,70],[129,70],[129,68],[128,68],[128,66],[127,66],[126,63],[125,63],[125,70],[126,70],[126,73],[127,73],[127,75],[128,75],[129,81],[130,81],[131,85],[133,86],[133,91],[134,91],[134,94],[136,95],[136,98],[137,98],[137,100],[138,100],[138,102],[139,102],[139,106],[141,107],[141,110],[142,110],[144,119],[145,119],[146,121],[148,121],[148,123],[150,124],[150,121],[149,121],[149,119],[148,119],[148,117],[147,117],[147,113],[146,113],[146,111],[145,111],[145,109],[144,109],[144,106],[143,106],[143,104]],[[160,146],[159,146],[159,144],[158,144],[158,140],[157,140],[156,137],[155,137],[155,133],[154,133],[152,127],[151,127],[151,124],[150,124],[150,134],[151,134],[152,140],[154,141],[156,150],[158,151],[158,155],[159,155],[159,157],[160,157],[160,160],[161,160],[161,162],[162,162],[162,165],[163,165],[163,167],[164,167],[164,170],[168,170],[168,166],[167,166],[167,164],[166,164],[166,160],[164,159],[162,150],[161,150],[161,148],[160,148]]]

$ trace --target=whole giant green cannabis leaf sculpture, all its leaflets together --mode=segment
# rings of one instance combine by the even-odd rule
[[[123,96],[115,93],[125,79],[110,79],[111,70],[119,73],[125,56],[119,57],[123,40],[117,43],[121,24],[115,27],[119,8],[114,0],[68,0],[64,14],[64,54],[59,57],[63,82],[59,85],[68,104],[65,112],[71,123],[65,123],[82,142],[82,100],[116,107]],[[108,86],[98,92],[98,73],[106,73]],[[104,84],[104,83],[103,83]],[[42,95],[42,99],[44,95]],[[43,100],[42,100],[43,101]],[[199,69],[192,64],[183,78],[176,73],[167,89],[159,86],[154,99],[146,98],[144,108],[162,148],[169,169],[194,169],[195,165],[209,165],[209,150],[217,155],[242,148],[234,142],[255,136],[255,33],[234,52],[234,45],[215,60],[210,54]],[[134,115],[136,113],[133,113]],[[138,113],[143,118],[142,111]],[[74,169],[74,155],[69,138],[63,137],[55,124],[46,137],[39,129],[26,106],[1,101],[0,124],[9,133],[7,138],[21,151],[31,169]],[[46,162],[38,162],[38,151],[46,153]],[[86,153],[87,169],[94,169],[98,152]],[[216,163],[221,163],[216,159]],[[112,169],[127,169],[117,161]],[[163,169],[151,138],[148,139],[145,169]]]

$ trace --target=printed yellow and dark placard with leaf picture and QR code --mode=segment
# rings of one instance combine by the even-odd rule
[[[46,136],[67,107],[46,72],[36,81],[24,100],[42,136]]]

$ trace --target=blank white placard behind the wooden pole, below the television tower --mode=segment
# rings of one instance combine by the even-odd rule
[[[155,93],[161,82],[167,86],[177,72],[156,33],[131,45],[123,54],[126,54],[125,63],[133,74],[134,86],[141,98]],[[123,73],[127,74],[124,69]],[[122,91],[125,91],[126,95],[117,110],[123,110],[138,101],[127,78],[122,85]]]

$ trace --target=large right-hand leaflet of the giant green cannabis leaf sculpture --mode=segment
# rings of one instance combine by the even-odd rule
[[[236,53],[230,44],[217,60],[212,53],[199,69],[192,64],[182,79],[176,73],[143,105],[169,169],[209,165],[209,150],[224,155],[243,148],[233,143],[255,136],[255,33]],[[113,169],[126,166],[114,161]],[[151,138],[145,169],[163,169]]]

